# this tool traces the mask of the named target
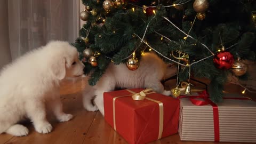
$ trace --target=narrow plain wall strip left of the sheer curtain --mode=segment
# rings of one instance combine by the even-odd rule
[[[0,69],[11,61],[7,1],[8,0],[0,1]]]

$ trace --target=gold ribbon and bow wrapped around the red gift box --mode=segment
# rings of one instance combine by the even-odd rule
[[[146,97],[147,94],[155,93],[153,91],[153,89],[145,89],[145,90],[140,91],[139,93],[136,93],[136,92],[131,91],[131,90],[126,90],[126,91],[129,91],[132,94],[123,95],[123,96],[113,98],[114,130],[116,131],[116,114],[115,114],[115,101],[116,101],[116,99],[122,98],[122,97],[132,96],[133,100],[145,100],[145,99],[147,99],[147,100],[154,101],[154,102],[158,103],[158,105],[159,105],[159,131],[158,131],[158,138],[157,139],[161,139],[162,138],[162,133],[163,133],[163,123],[164,123],[164,105],[163,105],[163,102]]]

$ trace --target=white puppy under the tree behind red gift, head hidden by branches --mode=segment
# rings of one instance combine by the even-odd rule
[[[161,80],[166,74],[167,65],[155,53],[145,53],[140,60],[137,70],[127,69],[125,64],[111,63],[100,81],[93,87],[87,85],[83,91],[83,105],[88,111],[100,110],[104,115],[103,92],[113,91],[115,87],[125,89],[152,88],[158,93],[170,95],[171,91],[164,90]],[[95,105],[91,100],[94,98]]]

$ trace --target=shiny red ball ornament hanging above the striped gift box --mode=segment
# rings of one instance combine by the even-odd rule
[[[234,57],[230,52],[219,52],[214,55],[213,63],[218,69],[230,69],[234,63]]]

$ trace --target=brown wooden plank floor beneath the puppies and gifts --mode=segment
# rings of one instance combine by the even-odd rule
[[[64,111],[74,115],[74,118],[65,123],[58,123],[52,116],[49,121],[53,125],[53,131],[49,134],[35,132],[31,123],[28,126],[27,137],[13,137],[9,134],[0,135],[0,143],[127,143],[117,132],[115,132],[104,120],[103,116],[96,112],[86,111],[82,106],[81,91],[84,88],[83,78],[66,79],[61,83],[61,95]],[[230,91],[242,91],[242,88],[234,85],[227,85]],[[217,142],[195,142],[180,141],[179,135],[174,134],[151,143],[217,143]],[[219,142],[221,143],[221,142]],[[227,142],[225,142],[227,143]]]

